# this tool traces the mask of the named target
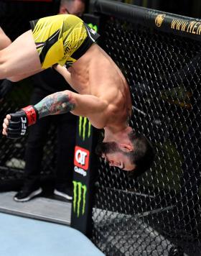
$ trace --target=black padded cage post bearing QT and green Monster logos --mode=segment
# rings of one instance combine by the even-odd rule
[[[93,187],[95,180],[95,134],[87,117],[80,116],[77,125],[71,227],[90,237],[92,229]]]

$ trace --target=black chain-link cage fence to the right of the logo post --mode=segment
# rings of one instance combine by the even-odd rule
[[[93,242],[109,256],[200,255],[200,42],[110,12],[98,13],[99,43],[128,80],[131,126],[156,158],[136,180],[100,159]]]

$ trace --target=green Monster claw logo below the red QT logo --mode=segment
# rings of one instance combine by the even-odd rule
[[[73,180],[73,212],[77,214],[78,217],[80,214],[85,214],[86,193],[87,187]],[[83,206],[82,209],[81,206]]]

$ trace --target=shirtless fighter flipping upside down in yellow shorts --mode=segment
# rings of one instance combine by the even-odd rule
[[[37,119],[70,111],[87,116],[93,127],[104,129],[104,140],[96,152],[109,165],[134,175],[144,173],[154,150],[143,134],[136,134],[128,125],[132,109],[128,84],[95,43],[99,35],[80,18],[68,14],[45,17],[31,25],[32,30],[0,51],[0,78],[18,81],[54,66],[78,93],[53,93],[34,106],[7,114],[2,134],[23,136]]]

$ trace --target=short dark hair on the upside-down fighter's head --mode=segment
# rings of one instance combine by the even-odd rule
[[[134,151],[128,153],[129,158],[136,165],[134,170],[128,172],[128,177],[137,178],[151,167],[155,156],[154,147],[144,134],[130,132],[128,137],[134,146]]]

